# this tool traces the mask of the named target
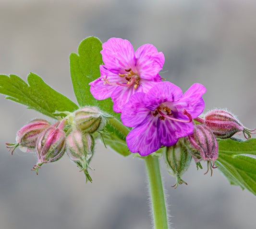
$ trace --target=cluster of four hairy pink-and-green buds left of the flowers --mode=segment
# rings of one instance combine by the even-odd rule
[[[92,182],[88,174],[89,162],[94,153],[94,133],[102,130],[108,116],[97,107],[83,107],[54,124],[44,119],[34,119],[18,132],[16,143],[6,143],[13,151],[19,147],[24,152],[36,152],[37,164],[32,170],[38,172],[40,166],[61,159],[67,152],[70,159],[84,171],[86,182]]]

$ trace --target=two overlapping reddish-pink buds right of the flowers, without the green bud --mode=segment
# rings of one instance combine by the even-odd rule
[[[226,139],[236,133],[243,132],[246,139],[255,134],[254,130],[244,127],[231,113],[223,110],[212,110],[204,118],[195,118],[199,124],[194,125],[193,134],[186,137],[185,144],[195,162],[200,165],[201,160],[207,161],[207,172],[214,167],[214,160],[218,158],[217,138]],[[207,173],[206,172],[206,173]]]

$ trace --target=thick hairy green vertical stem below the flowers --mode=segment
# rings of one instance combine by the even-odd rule
[[[168,229],[164,191],[158,158],[148,155],[145,157],[145,163],[150,186],[155,229]]]

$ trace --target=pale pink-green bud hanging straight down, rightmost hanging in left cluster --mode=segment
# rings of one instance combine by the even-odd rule
[[[79,129],[73,130],[66,138],[67,151],[70,159],[77,164],[81,171],[85,172],[86,182],[92,182],[88,173],[89,162],[94,153],[94,139],[88,133],[83,133]]]

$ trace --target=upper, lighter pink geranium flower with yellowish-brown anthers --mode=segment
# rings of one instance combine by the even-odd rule
[[[128,40],[110,38],[102,45],[100,77],[89,84],[90,92],[97,100],[111,97],[113,110],[122,112],[122,107],[135,92],[148,90],[161,81],[158,72],[164,64],[164,55],[153,45],[134,48]]]

